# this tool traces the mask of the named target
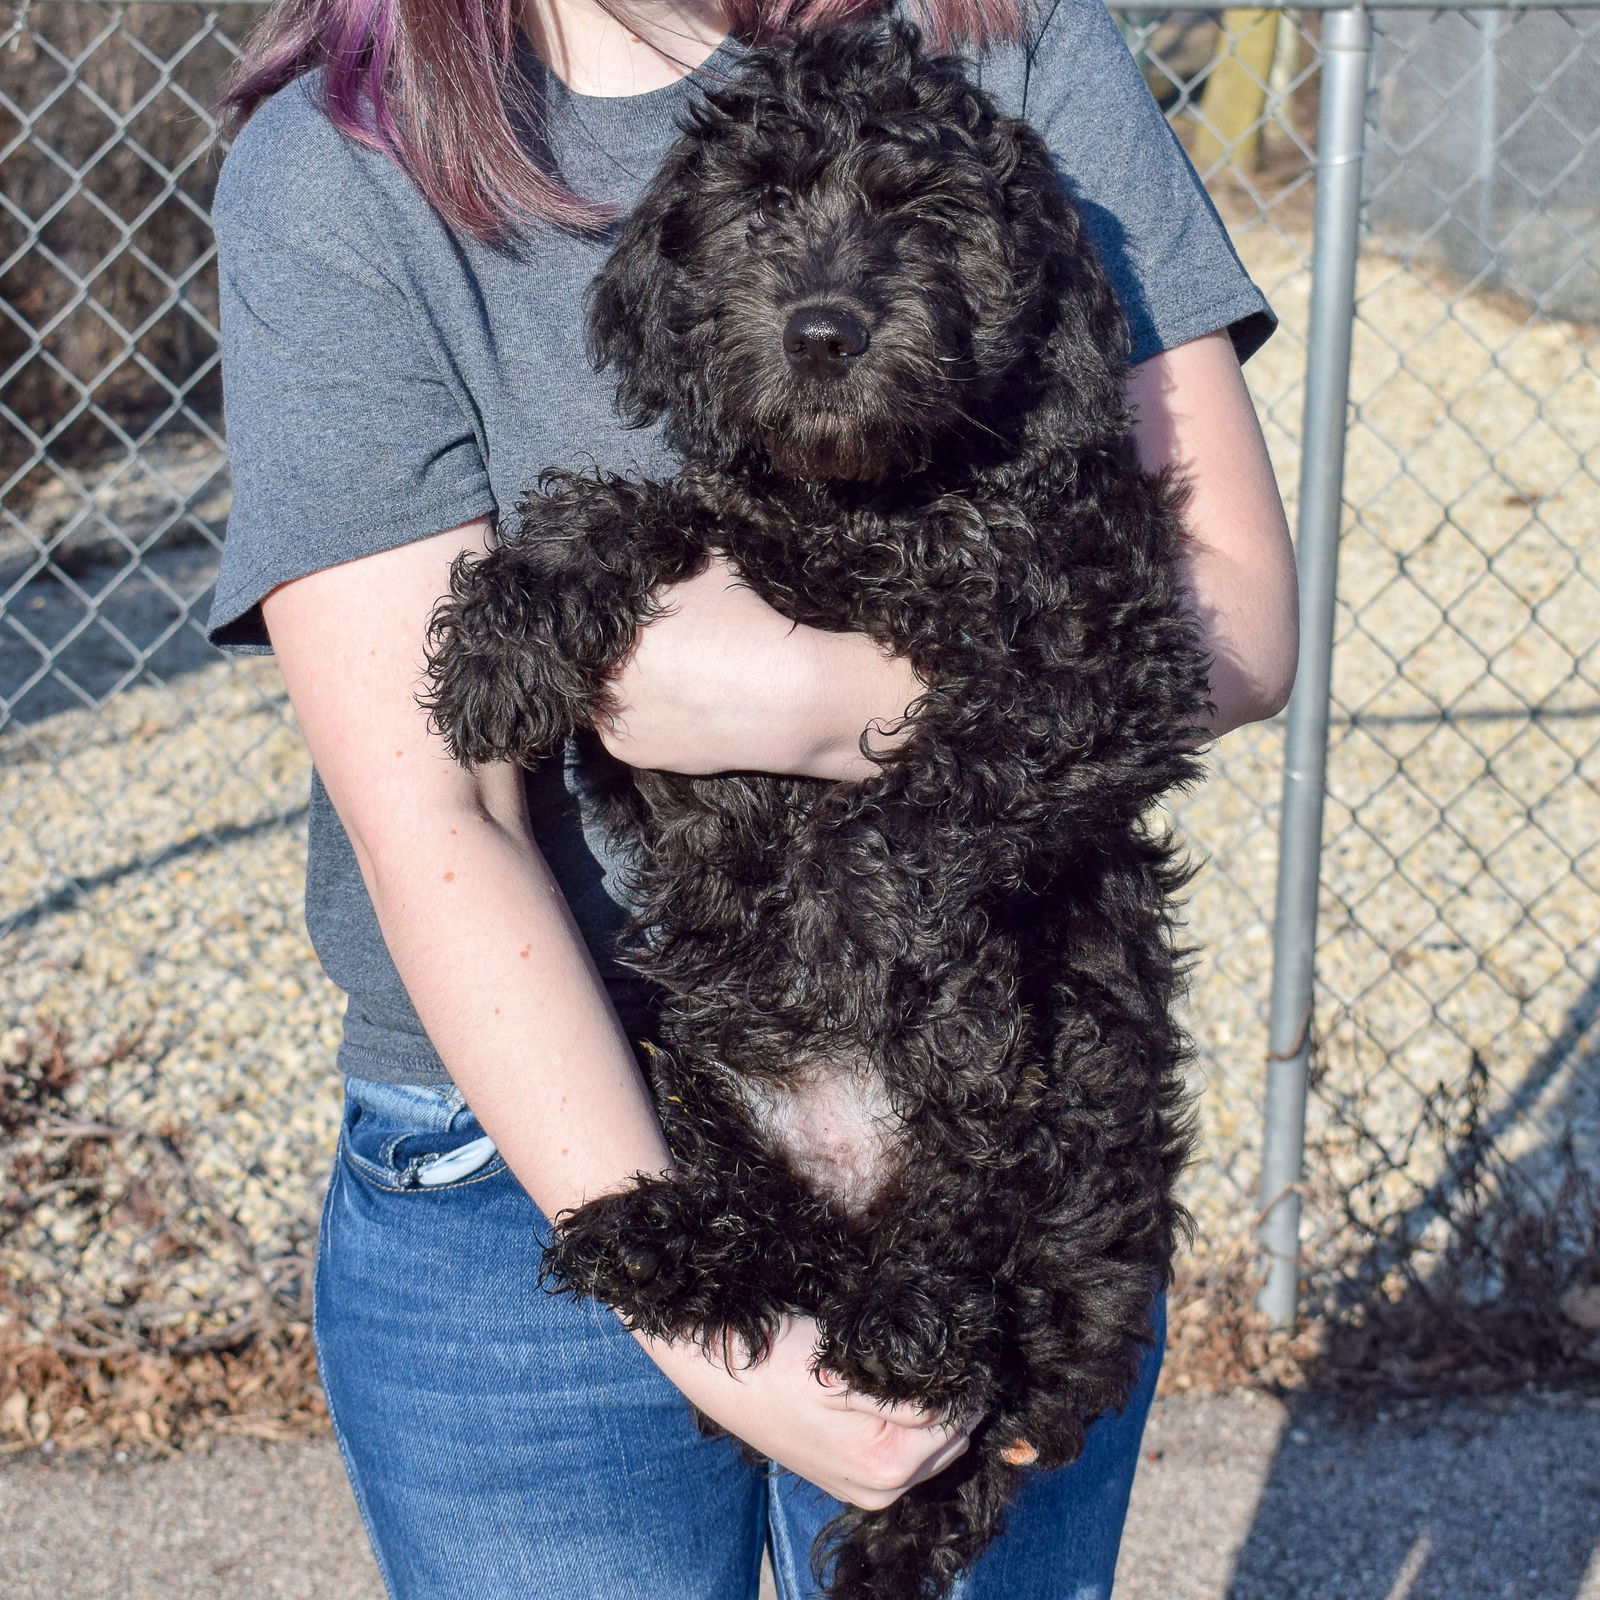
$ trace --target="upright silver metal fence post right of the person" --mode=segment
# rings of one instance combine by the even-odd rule
[[[1322,797],[1328,760],[1334,586],[1371,35],[1373,22],[1365,10],[1328,11],[1322,19],[1317,230],[1294,541],[1301,574],[1301,653],[1283,766],[1261,1160],[1261,1242],[1266,1251],[1261,1307],[1277,1328],[1293,1326],[1299,1298],[1299,1181],[1306,1144]]]

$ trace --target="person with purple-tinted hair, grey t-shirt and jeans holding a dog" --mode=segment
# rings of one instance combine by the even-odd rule
[[[650,997],[611,950],[618,864],[581,750],[466,771],[416,704],[451,562],[542,467],[662,467],[584,355],[606,218],[741,40],[846,10],[290,0],[230,91],[235,512],[211,622],[277,653],[317,770],[307,920],[349,995],[318,1350],[395,1595],[747,1595],[768,1538],[781,1592],[808,1595],[838,1502],[893,1502],[974,1421],[843,1390],[805,1318],[744,1363],[541,1291],[549,1218],[670,1165],[632,1048]],[[1192,483],[1213,731],[1272,715],[1293,563],[1238,374],[1264,301],[1099,0],[930,0],[922,21],[1058,152],[1130,320],[1139,456]],[[794,627],[725,566],[661,602],[597,730],[630,765],[850,781],[917,696],[907,662]],[[1110,1592],[1157,1366],[960,1594]],[[682,1397],[771,1466],[704,1438]]]

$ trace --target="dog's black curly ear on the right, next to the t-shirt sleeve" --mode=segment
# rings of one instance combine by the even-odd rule
[[[1082,450],[1117,440],[1128,430],[1122,304],[1043,139],[1008,117],[992,141],[1014,253],[1016,338],[1040,352],[1038,443]]]

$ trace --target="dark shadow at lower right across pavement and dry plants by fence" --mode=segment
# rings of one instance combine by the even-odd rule
[[[1474,1074],[1453,1091],[1442,1178],[1379,1226],[1365,1213],[1333,1304],[1334,1376],[1376,1374],[1370,1395],[1600,1389],[1597,1072],[1600,973],[1507,1099],[1475,1101]],[[1539,1136],[1514,1142],[1520,1126]],[[1285,1408],[1226,1600],[1600,1595],[1600,1398],[1366,1405],[1384,1421]]]

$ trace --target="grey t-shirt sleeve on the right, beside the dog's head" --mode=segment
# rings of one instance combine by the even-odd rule
[[[1128,317],[1138,363],[1227,328],[1240,360],[1277,318],[1101,0],[1045,0],[1022,115],[1050,146]]]

